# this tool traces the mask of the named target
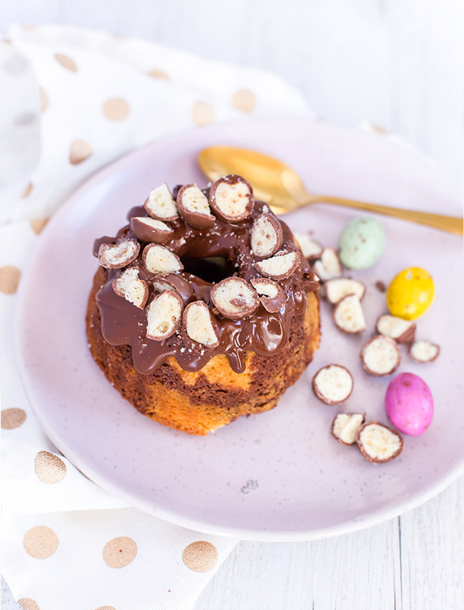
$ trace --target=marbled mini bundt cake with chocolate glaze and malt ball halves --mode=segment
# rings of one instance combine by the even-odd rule
[[[276,406],[319,345],[319,284],[240,176],[163,184],[95,242],[93,358],[136,409],[206,435]]]

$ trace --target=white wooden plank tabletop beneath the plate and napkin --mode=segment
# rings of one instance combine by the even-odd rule
[[[277,71],[321,118],[398,132],[460,188],[461,0],[3,0],[17,21],[139,35]],[[456,405],[456,408],[461,406]],[[423,473],[422,473],[423,474]],[[464,607],[464,480],[375,528],[308,543],[235,548],[195,610]],[[2,582],[3,610],[17,610]],[[43,609],[46,610],[46,609]]]

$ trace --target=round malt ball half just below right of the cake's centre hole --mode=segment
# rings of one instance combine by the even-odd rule
[[[256,290],[241,277],[226,277],[211,288],[211,301],[217,311],[230,320],[254,313],[260,304]]]

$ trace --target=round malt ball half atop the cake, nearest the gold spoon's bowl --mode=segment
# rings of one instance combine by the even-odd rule
[[[223,220],[236,222],[253,214],[253,189],[241,176],[231,174],[211,186],[209,202]]]

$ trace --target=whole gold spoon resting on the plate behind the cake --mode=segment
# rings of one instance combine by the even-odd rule
[[[198,164],[211,182],[229,174],[243,176],[253,186],[256,199],[265,201],[276,214],[285,214],[311,203],[323,202],[394,216],[457,235],[463,234],[463,219],[456,216],[429,214],[330,195],[312,195],[306,191],[303,182],[292,168],[273,157],[246,148],[211,146],[199,153]]]

